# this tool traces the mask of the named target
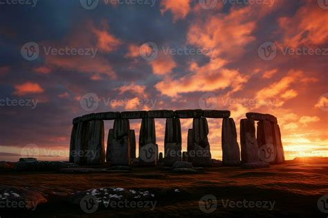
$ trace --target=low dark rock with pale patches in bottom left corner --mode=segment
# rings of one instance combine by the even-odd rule
[[[0,201],[10,202],[10,207],[3,204],[4,207],[1,206],[1,210],[36,210],[37,206],[46,203],[47,199],[36,190],[17,186],[0,186]],[[14,204],[19,208],[14,207]]]

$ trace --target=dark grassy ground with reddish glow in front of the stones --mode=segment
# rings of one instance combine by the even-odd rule
[[[0,217],[328,215],[327,159],[260,169],[217,163],[83,168],[0,162]]]

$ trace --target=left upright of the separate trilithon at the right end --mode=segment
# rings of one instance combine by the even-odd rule
[[[259,161],[259,147],[255,138],[255,121],[253,119],[240,120],[240,143],[242,146],[242,163]]]

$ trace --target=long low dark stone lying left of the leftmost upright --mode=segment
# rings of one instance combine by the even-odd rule
[[[57,171],[62,168],[78,168],[78,164],[66,163],[61,161],[19,161],[15,164],[15,171]]]

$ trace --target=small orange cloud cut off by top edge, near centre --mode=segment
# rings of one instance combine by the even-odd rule
[[[162,0],[161,14],[163,15],[167,10],[173,14],[173,21],[184,19],[190,11],[190,0]]]

